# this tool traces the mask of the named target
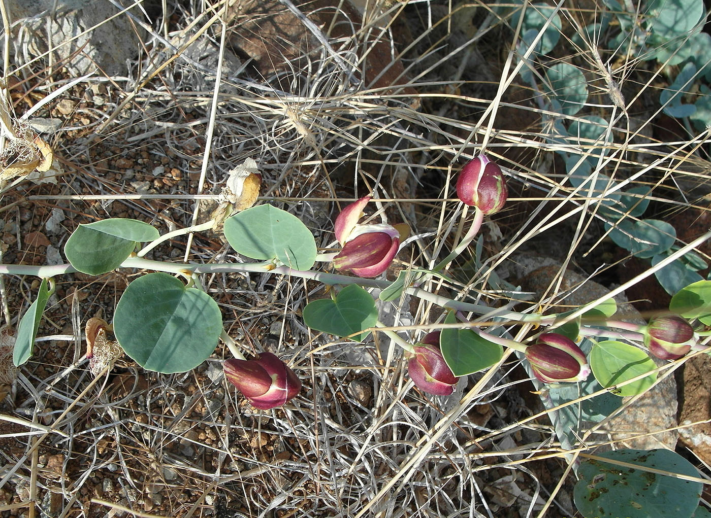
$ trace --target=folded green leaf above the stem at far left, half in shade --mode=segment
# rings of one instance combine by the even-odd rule
[[[77,271],[100,275],[120,266],[137,243],[158,238],[158,231],[148,223],[111,218],[79,225],[67,239],[64,254]]]

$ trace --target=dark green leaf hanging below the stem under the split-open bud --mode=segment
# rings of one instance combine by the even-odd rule
[[[335,300],[321,298],[306,304],[303,312],[304,322],[311,329],[346,337],[378,323],[378,308],[368,291],[357,284],[351,284],[341,290]],[[363,342],[370,331],[355,335],[351,340]]]

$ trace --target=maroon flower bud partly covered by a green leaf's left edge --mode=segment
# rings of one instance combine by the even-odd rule
[[[439,349],[439,331],[428,333],[415,344],[415,354],[407,362],[407,372],[422,392],[449,396],[459,378],[452,374]]]

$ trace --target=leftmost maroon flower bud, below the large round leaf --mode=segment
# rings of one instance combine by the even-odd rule
[[[225,376],[260,410],[282,406],[301,390],[301,381],[292,369],[271,352],[254,360],[225,360]]]

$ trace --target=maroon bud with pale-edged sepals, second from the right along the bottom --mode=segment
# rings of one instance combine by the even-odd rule
[[[545,333],[525,350],[535,377],[543,383],[582,382],[590,374],[587,358],[575,342],[557,333]]]

